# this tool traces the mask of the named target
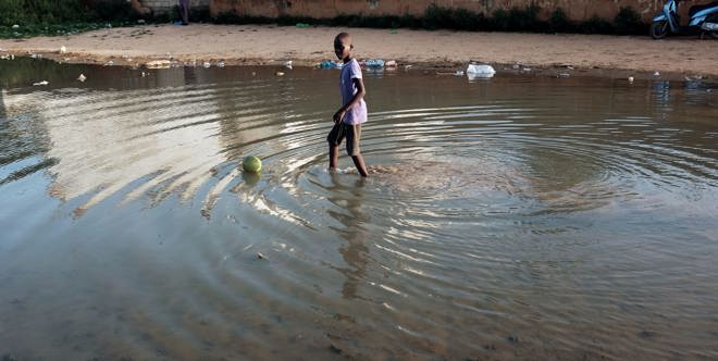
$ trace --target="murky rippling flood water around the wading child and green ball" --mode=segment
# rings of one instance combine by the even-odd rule
[[[0,356],[718,358],[716,84],[276,70],[0,61]]]

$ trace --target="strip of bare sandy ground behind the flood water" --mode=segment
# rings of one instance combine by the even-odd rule
[[[174,59],[226,64],[275,64],[292,59],[313,65],[333,59],[332,39],[341,28],[257,25],[147,25],[70,37],[0,40],[0,51],[44,53],[66,62],[143,65]],[[470,60],[537,69],[624,71],[718,77],[718,43],[696,37],[652,40],[602,35],[456,33],[349,28],[356,57],[399,64],[458,67]],[[64,46],[66,53],[59,54]],[[570,66],[570,67],[569,67]]]

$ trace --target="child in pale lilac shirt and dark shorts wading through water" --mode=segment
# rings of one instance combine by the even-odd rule
[[[334,38],[334,53],[344,61],[339,77],[342,92],[342,108],[334,113],[334,126],[326,140],[330,145],[330,171],[336,170],[339,158],[339,145],[346,138],[347,153],[351,157],[354,165],[362,177],[366,177],[367,166],[361,158],[359,140],[361,139],[361,124],[367,122],[367,103],[364,102],[364,83],[361,80],[361,67],[356,59],[351,58],[351,36],[341,33]]]

